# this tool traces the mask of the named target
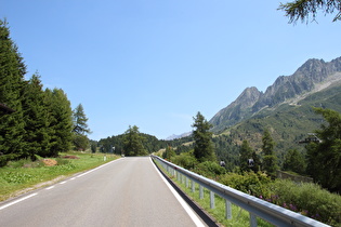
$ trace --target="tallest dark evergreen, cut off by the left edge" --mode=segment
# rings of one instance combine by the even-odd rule
[[[25,74],[26,66],[10,38],[8,23],[0,19],[0,103],[15,110],[11,115],[0,112],[0,165],[8,160],[26,156],[23,152],[24,119],[21,95]]]

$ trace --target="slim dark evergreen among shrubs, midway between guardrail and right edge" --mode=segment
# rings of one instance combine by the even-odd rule
[[[276,163],[277,158],[274,153],[275,143],[273,138],[271,137],[268,130],[264,131],[262,142],[263,142],[262,150],[264,153],[263,169],[270,176],[275,177],[276,171],[277,171],[277,163]]]

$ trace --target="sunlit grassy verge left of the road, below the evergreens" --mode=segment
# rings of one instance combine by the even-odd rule
[[[56,158],[56,165],[47,166],[42,160],[31,162],[30,160],[19,160],[9,162],[0,168],[0,201],[23,192],[53,184],[78,172],[83,172],[96,168],[105,162],[116,159],[116,156],[106,155],[104,161],[103,153],[60,153],[64,156],[76,156],[79,159]],[[49,182],[52,181],[52,182]]]

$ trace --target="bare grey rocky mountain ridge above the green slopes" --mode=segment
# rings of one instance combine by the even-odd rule
[[[341,57],[331,62],[309,59],[291,76],[280,76],[260,92],[247,88],[235,102],[220,110],[211,120],[213,132],[221,132],[238,122],[250,119],[263,109],[280,104],[296,104],[314,92],[341,82]]]

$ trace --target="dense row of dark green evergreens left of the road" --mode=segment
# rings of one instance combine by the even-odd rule
[[[0,166],[11,160],[57,157],[88,147],[87,117],[62,89],[43,89],[40,76],[26,80],[25,62],[0,21]]]

